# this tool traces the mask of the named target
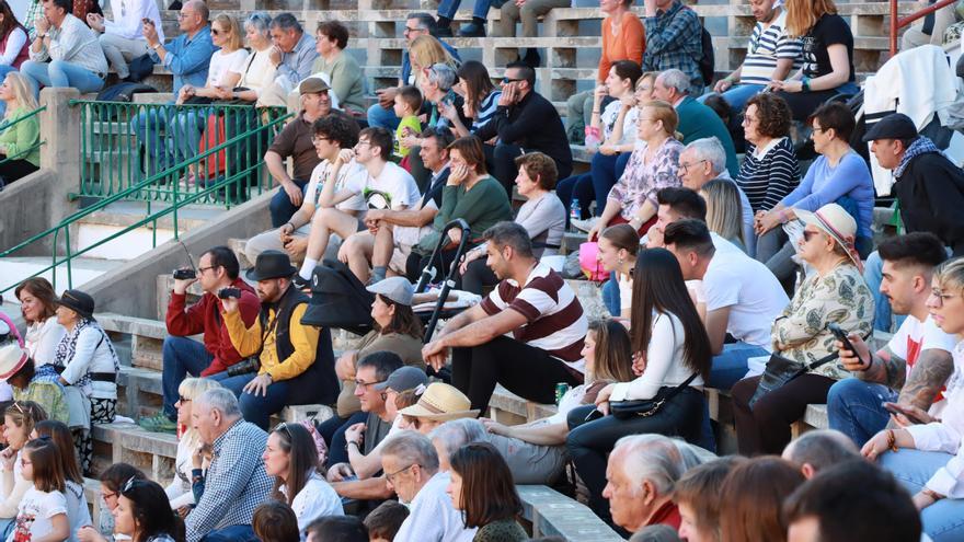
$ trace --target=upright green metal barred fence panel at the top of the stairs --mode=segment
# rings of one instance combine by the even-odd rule
[[[80,187],[74,196],[108,197],[154,178],[127,199],[171,201],[236,178],[202,204],[237,205],[271,188],[263,157],[286,118],[284,107],[145,104],[73,100],[80,107]],[[239,139],[239,136],[243,136]],[[233,141],[222,147],[225,141]],[[208,151],[218,149],[216,152]],[[238,172],[246,170],[246,178]]]

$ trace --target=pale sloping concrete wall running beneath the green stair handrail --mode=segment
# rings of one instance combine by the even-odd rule
[[[197,258],[211,246],[228,244],[229,239],[248,239],[271,229],[267,207],[273,194],[274,191],[231,209],[215,222],[182,235],[181,241]],[[158,318],[158,275],[171,273],[184,265],[186,257],[181,243],[170,241],[101,275],[88,282],[84,290],[96,301],[97,312],[116,312],[154,320]]]

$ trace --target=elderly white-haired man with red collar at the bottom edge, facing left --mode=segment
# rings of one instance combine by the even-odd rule
[[[679,529],[673,503],[676,481],[692,466],[714,457],[662,435],[632,435],[616,442],[606,468],[606,488],[612,523],[629,532]],[[598,511],[597,511],[598,514]],[[607,519],[607,518],[602,518]]]

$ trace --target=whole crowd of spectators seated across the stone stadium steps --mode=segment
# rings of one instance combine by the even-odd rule
[[[74,3],[38,2],[21,25],[0,0],[15,124],[0,127],[0,188],[39,165],[39,125],[22,118],[39,88],[97,91],[108,65],[174,76],[174,100],[131,120],[151,172],[203,148],[200,106],[298,111],[260,149],[278,189],[272,229],[244,247],[253,267],[213,246],[173,280],[163,403],[139,419],[177,435],[172,477],[103,469],[97,526],[83,476],[93,425],[118,417],[120,356],[90,295],[16,287],[24,333],[0,314],[0,535],[521,541],[517,484],[578,494],[632,540],[964,535],[964,172],[902,114],[856,139],[839,100],[858,90],[853,35],[830,0],[754,0],[748,54],[715,84],[692,9],[601,0],[596,85],[565,123],[537,92],[537,48],[496,87],[439,38],[457,1],[405,18],[398,84],[367,109],[341,22],[312,38],[290,13],[211,18],[190,0],[165,42],[153,2],[120,0],[113,20]],[[535,37],[569,2],[477,0],[459,34],[485,35],[493,5],[494,34],[521,22]],[[904,230],[876,246],[857,141],[894,174]],[[571,143],[588,170],[573,174]],[[570,226],[612,318],[563,278]],[[450,269],[472,301],[426,335],[413,284]],[[370,300],[337,353],[338,326],[311,323],[348,309],[320,286],[332,273]],[[894,332],[876,351],[874,328]],[[490,418],[497,387],[555,414]],[[707,390],[732,396],[737,454],[716,455]],[[272,427],[314,404],[332,415]],[[813,404],[830,429],[792,439]]]

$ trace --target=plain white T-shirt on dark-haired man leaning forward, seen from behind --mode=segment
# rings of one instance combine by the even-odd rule
[[[726,243],[726,244],[723,244]],[[726,332],[737,341],[771,350],[773,321],[790,302],[766,265],[728,242],[714,240],[716,252],[703,276],[707,313],[730,308]],[[724,246],[730,245],[730,247]]]

